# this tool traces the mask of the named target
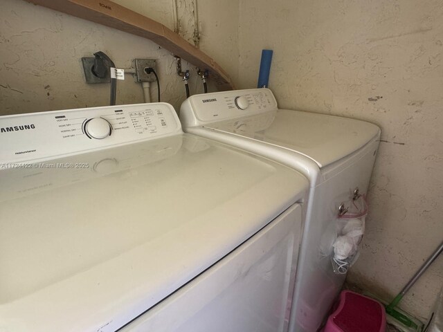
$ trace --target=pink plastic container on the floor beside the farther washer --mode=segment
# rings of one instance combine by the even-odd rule
[[[343,291],[338,308],[327,319],[324,332],[385,332],[385,308],[374,299]]]

